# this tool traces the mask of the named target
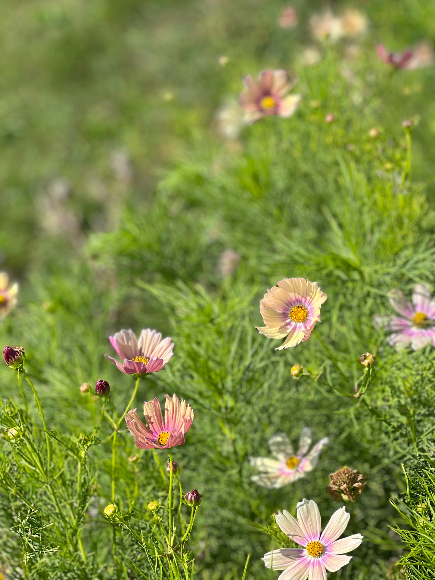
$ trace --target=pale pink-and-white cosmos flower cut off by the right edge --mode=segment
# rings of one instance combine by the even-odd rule
[[[375,325],[385,324],[387,331],[393,332],[388,338],[390,346],[396,350],[411,345],[412,350],[426,345],[435,346],[435,299],[431,300],[430,288],[425,284],[415,284],[412,305],[399,289],[391,290],[390,305],[401,316],[375,318]]]

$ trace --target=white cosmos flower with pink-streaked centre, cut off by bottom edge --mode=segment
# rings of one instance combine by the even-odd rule
[[[278,580],[327,580],[327,570],[336,572],[349,564],[351,556],[345,554],[358,548],[362,535],[338,539],[349,523],[344,506],[332,514],[322,533],[320,512],[312,499],[298,503],[296,517],[284,510],[278,512],[276,521],[284,534],[302,548],[281,548],[264,554],[266,568],[284,570]]]

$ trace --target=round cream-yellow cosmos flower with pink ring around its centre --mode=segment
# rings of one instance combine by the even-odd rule
[[[260,300],[265,327],[256,327],[267,338],[287,338],[275,350],[288,349],[310,338],[320,321],[320,307],[328,296],[317,282],[304,278],[285,278],[270,288]]]

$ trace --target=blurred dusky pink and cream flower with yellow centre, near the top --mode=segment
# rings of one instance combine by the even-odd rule
[[[243,79],[246,92],[240,93],[239,104],[245,111],[245,122],[251,124],[267,115],[291,117],[298,108],[300,95],[287,95],[292,88],[287,71],[266,70],[258,81],[251,75]]]

